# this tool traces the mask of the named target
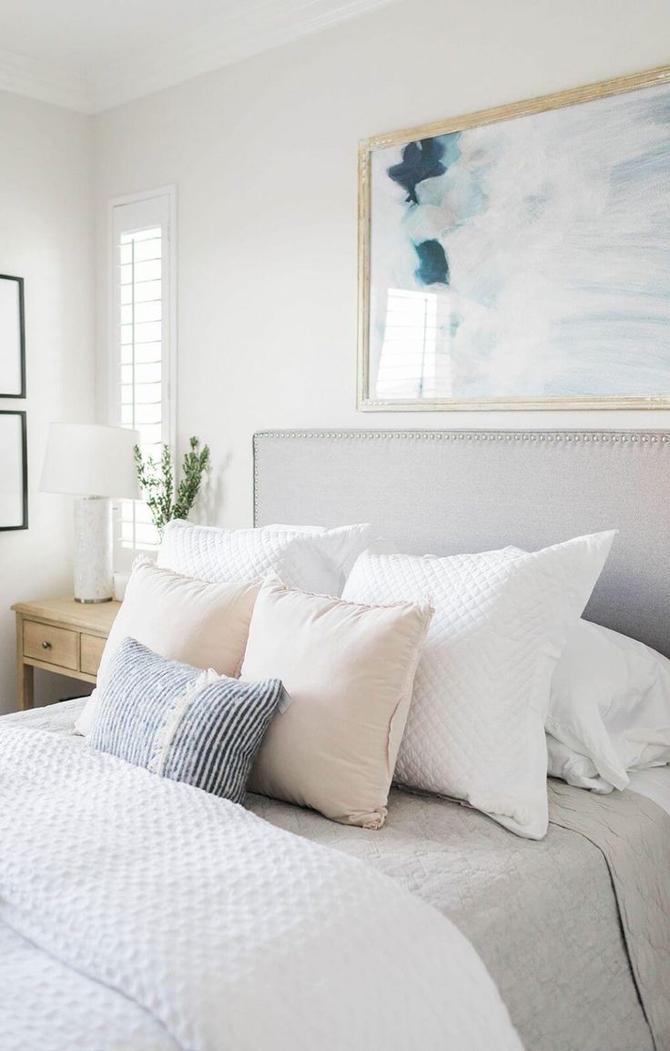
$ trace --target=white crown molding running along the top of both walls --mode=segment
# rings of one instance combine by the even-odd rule
[[[394,0],[248,0],[235,13],[183,34],[163,47],[144,48],[87,71],[59,67],[0,49],[0,90],[24,95],[84,114],[98,114],[153,91],[173,87]]]

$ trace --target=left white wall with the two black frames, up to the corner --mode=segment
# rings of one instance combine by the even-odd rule
[[[0,273],[25,279],[28,392],[0,408],[27,409],[29,479],[29,529],[0,533],[0,712],[16,696],[11,604],[71,593],[71,503],[37,487],[48,424],[93,417],[91,143],[90,118],[0,92]],[[37,674],[36,693],[72,696],[72,680]]]

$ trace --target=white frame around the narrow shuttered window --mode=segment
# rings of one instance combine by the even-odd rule
[[[156,198],[167,198],[168,217],[165,230],[165,249],[162,259],[167,265],[167,281],[164,281],[163,297],[167,290],[167,310],[163,316],[162,331],[162,364],[164,375],[163,406],[165,419],[162,418],[164,440],[169,446],[173,460],[176,448],[176,375],[177,375],[177,329],[176,329],[176,186],[169,184],[159,186],[150,190],[142,190],[139,193],[125,193],[121,197],[112,198],[107,203],[107,261],[108,280],[106,285],[107,296],[107,399],[106,414],[109,424],[116,427],[121,426],[119,414],[119,390],[117,382],[117,371],[120,367],[119,358],[119,333],[118,333],[118,304],[117,304],[117,243],[114,238],[114,209],[123,205],[141,204],[143,201],[151,201]],[[118,504],[114,501],[114,518],[118,514]],[[129,557],[124,557],[126,553]],[[122,549],[118,543],[114,528],[114,570],[129,569],[134,557],[141,554],[138,549]],[[146,554],[146,552],[145,552]],[[122,562],[124,564],[117,564]]]

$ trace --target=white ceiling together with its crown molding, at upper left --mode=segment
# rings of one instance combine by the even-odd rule
[[[99,112],[391,0],[0,0],[0,90]]]

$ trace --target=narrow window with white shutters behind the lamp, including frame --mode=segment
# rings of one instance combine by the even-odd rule
[[[110,420],[140,432],[154,459],[174,440],[174,191],[111,204]],[[120,500],[114,564],[127,569],[159,537],[142,500]]]

